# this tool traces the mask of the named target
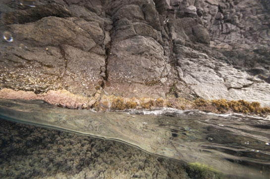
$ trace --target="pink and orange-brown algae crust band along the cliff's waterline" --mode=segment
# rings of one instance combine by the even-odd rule
[[[244,100],[227,101],[220,100],[186,100],[175,98],[174,95],[167,98],[123,98],[114,95],[106,95],[98,90],[92,97],[83,97],[72,94],[66,90],[49,90],[47,93],[35,94],[31,91],[14,91],[12,89],[0,90],[0,99],[23,99],[23,100],[44,100],[57,107],[68,109],[92,109],[97,112],[106,111],[127,111],[130,109],[155,110],[163,107],[171,107],[180,110],[198,109],[205,112],[214,113],[245,113],[267,116],[270,114],[270,107],[261,107],[260,103],[249,103]]]

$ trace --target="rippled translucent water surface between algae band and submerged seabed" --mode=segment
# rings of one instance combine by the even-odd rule
[[[121,141],[203,170],[250,179],[270,176],[267,118],[170,108],[97,113],[40,100],[4,99],[0,99],[0,117]]]

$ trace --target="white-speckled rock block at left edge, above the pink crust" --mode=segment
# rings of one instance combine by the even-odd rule
[[[29,47],[30,48],[30,47]],[[57,47],[24,50],[19,46],[2,46],[0,53],[0,87],[27,91],[57,89],[65,62]]]

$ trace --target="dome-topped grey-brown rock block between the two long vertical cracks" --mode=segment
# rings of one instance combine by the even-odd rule
[[[144,90],[153,91],[147,94],[164,94],[163,89],[162,91],[151,90],[151,88],[153,89],[151,86],[159,85],[160,81],[157,78],[166,75],[170,70],[166,65],[168,59],[164,56],[161,44],[147,36],[133,36],[120,41],[116,41],[117,38],[115,41],[113,40],[114,38],[112,38],[111,55],[108,57],[107,66],[108,80],[111,85],[107,91],[116,92],[117,89],[120,89],[120,93],[136,95],[133,92],[134,88],[131,88],[130,85],[144,84],[149,85],[149,88],[142,87]],[[123,83],[130,87],[121,87],[124,85]]]

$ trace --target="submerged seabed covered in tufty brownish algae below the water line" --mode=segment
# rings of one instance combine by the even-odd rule
[[[224,179],[221,174],[157,158],[124,143],[0,122],[2,179]]]

